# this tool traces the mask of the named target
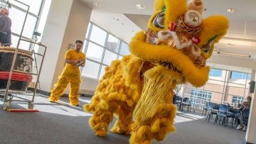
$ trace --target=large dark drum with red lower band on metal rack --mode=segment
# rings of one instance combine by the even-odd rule
[[[0,89],[6,89],[7,87],[15,50],[16,48],[0,47]],[[32,52],[18,50],[14,64],[16,72],[12,72],[10,90],[22,92],[27,90],[28,84],[33,79],[31,75],[32,65]]]

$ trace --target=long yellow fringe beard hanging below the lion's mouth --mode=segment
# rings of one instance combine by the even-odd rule
[[[168,74],[167,74],[168,72]],[[142,97],[139,99],[134,110],[134,118],[146,121],[152,118],[157,111],[157,107],[163,103],[171,103],[172,89],[176,87],[176,83],[182,82],[181,74],[166,70],[164,67],[158,66],[148,70],[145,76]]]

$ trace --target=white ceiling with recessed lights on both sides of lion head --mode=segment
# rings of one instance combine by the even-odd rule
[[[154,13],[154,0],[80,1],[92,9],[90,21],[127,43],[137,31],[146,30],[149,17]],[[95,2],[101,4],[101,6],[93,6]],[[137,9],[136,4],[142,4],[145,9]],[[220,43],[215,45],[215,51],[250,55],[247,58],[233,55],[221,56],[237,57],[256,62],[256,1],[205,0],[205,8],[203,18],[221,14],[227,16],[230,20],[228,33],[223,40],[220,40]],[[227,9],[230,8],[236,9],[236,12],[228,13]],[[118,18],[118,21],[114,18]]]

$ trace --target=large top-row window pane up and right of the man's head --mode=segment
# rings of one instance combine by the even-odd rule
[[[94,41],[95,43],[105,46],[105,41],[107,38],[107,32],[103,31],[101,28],[97,26],[92,26],[92,33],[90,35],[90,40]]]

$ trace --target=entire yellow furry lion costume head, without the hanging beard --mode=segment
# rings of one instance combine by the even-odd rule
[[[206,60],[212,55],[214,44],[227,32],[228,18],[203,19],[202,11],[196,11],[190,9],[186,1],[156,3],[155,13],[149,19],[149,30],[132,38],[130,52],[182,74],[186,82],[195,87],[203,86],[210,70]]]

